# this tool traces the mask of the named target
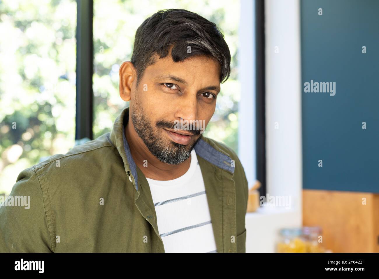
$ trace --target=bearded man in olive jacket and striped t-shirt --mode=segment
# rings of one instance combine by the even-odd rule
[[[0,207],[0,252],[245,252],[243,167],[202,136],[230,74],[216,25],[158,11],[119,74],[112,132],[19,174],[30,208]]]

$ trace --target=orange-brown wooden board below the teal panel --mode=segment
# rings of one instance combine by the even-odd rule
[[[325,248],[379,252],[379,194],[304,189],[302,203],[303,226],[320,226]]]

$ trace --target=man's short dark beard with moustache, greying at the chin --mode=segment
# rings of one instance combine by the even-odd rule
[[[174,129],[174,121],[157,121],[152,123],[145,117],[143,109],[139,107],[139,102],[136,100],[135,106],[131,111],[131,118],[134,129],[139,137],[143,140],[150,152],[163,163],[170,165],[178,165],[183,163],[191,155],[196,143],[202,137],[199,130],[186,130],[192,132],[195,136],[200,135],[193,143],[184,145],[174,143],[161,135],[161,128]]]

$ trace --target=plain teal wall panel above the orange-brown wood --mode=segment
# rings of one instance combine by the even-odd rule
[[[302,0],[301,52],[303,187],[379,193],[379,1]]]

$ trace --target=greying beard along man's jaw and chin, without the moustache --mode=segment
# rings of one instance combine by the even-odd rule
[[[189,158],[197,141],[190,146],[190,150],[182,144],[173,142],[167,143],[159,138],[159,136],[154,135],[154,129],[144,117],[141,108],[138,107],[137,111],[132,110],[131,117],[134,128],[139,137],[144,141],[147,148],[158,158],[158,160],[170,165],[179,165]],[[200,138],[201,136],[199,139]]]

